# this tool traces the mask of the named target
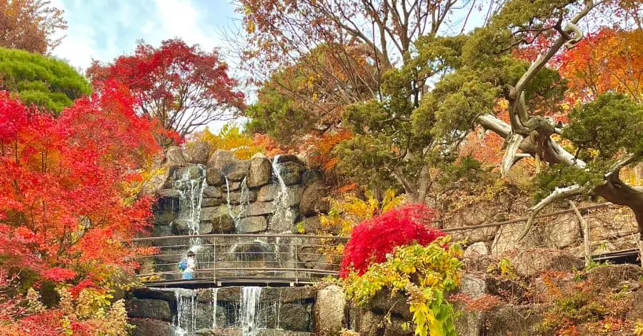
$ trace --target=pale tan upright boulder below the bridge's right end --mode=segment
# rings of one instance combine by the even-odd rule
[[[344,327],[346,297],[338,285],[330,285],[317,292],[314,306],[315,334],[339,335]]]

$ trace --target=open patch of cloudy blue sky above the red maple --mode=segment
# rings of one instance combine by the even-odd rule
[[[69,28],[54,55],[86,69],[92,58],[111,61],[131,54],[136,41],[157,46],[180,37],[209,50],[223,46],[223,29],[234,27],[229,0],[53,0]]]

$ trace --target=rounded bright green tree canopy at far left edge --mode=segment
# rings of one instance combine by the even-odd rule
[[[64,61],[4,48],[0,48],[0,89],[56,114],[91,93],[89,82]]]

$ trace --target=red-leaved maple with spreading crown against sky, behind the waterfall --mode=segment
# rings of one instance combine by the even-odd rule
[[[94,61],[87,75],[96,83],[113,80],[131,89],[139,113],[158,119],[181,137],[211,121],[234,116],[244,108],[244,94],[228,75],[217,51],[206,53],[180,39],[163,41],[159,48],[141,43],[134,55],[111,64]],[[168,145],[167,138],[157,136]]]

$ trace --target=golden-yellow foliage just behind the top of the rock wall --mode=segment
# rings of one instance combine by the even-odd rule
[[[231,153],[240,160],[247,160],[256,153],[264,153],[264,148],[257,146],[252,137],[241,131],[239,126],[234,123],[226,123],[219,134],[211,133],[209,128],[194,135],[194,141],[187,144],[192,146],[195,142],[205,142],[210,145],[212,155],[217,149],[231,151]]]

